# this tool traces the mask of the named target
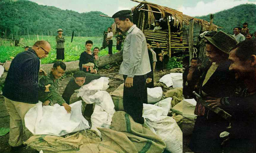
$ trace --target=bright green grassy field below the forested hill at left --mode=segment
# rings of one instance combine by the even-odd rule
[[[22,41],[26,46],[33,46],[33,44],[37,41],[36,36],[22,36],[24,38]],[[56,61],[56,41],[55,36],[39,36],[39,40],[47,40],[51,44],[51,52],[47,58],[41,60],[42,64],[54,63]],[[79,60],[80,54],[85,50],[84,44],[87,40],[93,41],[93,47],[101,47],[103,38],[102,37],[74,37],[73,42],[71,42],[71,37],[65,36],[65,61],[76,61]],[[116,40],[113,39],[113,43],[116,44]],[[3,43],[3,44],[2,44]],[[15,47],[10,46],[10,41],[5,43],[5,40],[0,42],[2,44],[0,46],[0,62],[5,62],[6,60],[10,60],[10,57],[15,57],[18,53],[24,51],[24,47]],[[116,46],[113,45],[113,54],[117,53]],[[108,55],[108,47],[100,50],[99,56]]]

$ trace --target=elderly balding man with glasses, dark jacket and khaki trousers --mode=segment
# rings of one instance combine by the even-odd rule
[[[8,71],[3,96],[10,115],[9,144],[12,150],[23,146],[23,130],[28,138],[32,136],[25,127],[24,117],[38,103],[38,91],[49,92],[51,85],[39,84],[38,78],[40,59],[46,58],[50,50],[49,42],[39,40],[32,48],[17,54]]]

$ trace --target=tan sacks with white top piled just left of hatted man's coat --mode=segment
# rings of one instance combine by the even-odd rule
[[[174,111],[172,114],[177,122],[182,119],[181,130],[183,135],[191,135],[193,132],[197,118],[197,115],[194,114],[196,105],[197,101],[195,99],[184,99],[172,109]],[[182,118],[180,114],[175,113],[176,111],[182,112]]]

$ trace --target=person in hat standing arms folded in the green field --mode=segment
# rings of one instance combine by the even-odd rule
[[[58,29],[58,35],[55,37],[56,39],[56,59],[63,61],[65,59],[65,50],[64,50],[64,42],[65,38],[62,36],[63,30]]]

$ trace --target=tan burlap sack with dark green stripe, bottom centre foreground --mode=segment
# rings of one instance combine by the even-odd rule
[[[136,123],[123,111],[112,117],[112,129],[99,129],[103,141],[99,152],[163,152],[166,144],[149,127]]]

